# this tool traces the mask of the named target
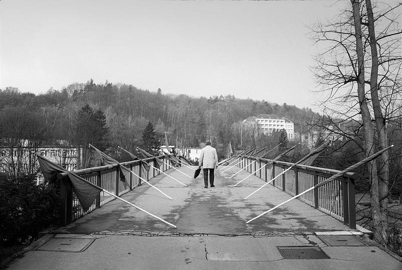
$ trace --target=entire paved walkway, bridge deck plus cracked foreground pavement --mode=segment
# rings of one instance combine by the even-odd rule
[[[192,174],[188,168],[182,170]],[[173,201],[148,185],[138,187],[123,197],[175,224],[177,229],[115,200],[66,227],[46,234],[33,243],[23,257],[8,265],[8,269],[399,270],[402,267],[400,261],[367,239],[364,246],[325,244],[313,232],[349,228],[297,200],[246,224],[247,220],[290,198],[268,185],[254,197],[243,200],[263,183],[252,176],[243,185],[232,188],[247,175],[246,172],[240,173],[236,179],[228,178],[229,171],[224,175],[217,174],[216,187],[208,190],[204,189],[202,175],[194,180],[183,177],[177,171],[169,170],[168,173],[188,184],[188,187],[183,187],[163,176],[152,179],[152,184],[171,196]],[[144,237],[165,235],[167,232],[193,235]],[[231,234],[240,236],[227,237]],[[80,238],[92,239],[93,243],[82,252],[36,250],[46,241],[58,238],[63,239],[63,244],[70,243],[72,239],[76,243]],[[318,246],[329,258],[284,259],[278,246]]]

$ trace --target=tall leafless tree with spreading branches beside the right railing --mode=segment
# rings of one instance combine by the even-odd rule
[[[340,133],[345,130],[340,126],[347,126],[354,134],[342,135],[360,145],[366,156],[389,145],[387,123],[396,112],[395,108],[390,110],[391,104],[401,95],[402,32],[396,13],[400,6],[376,4],[372,7],[370,0],[351,0],[349,8],[336,19],[317,23],[312,28],[315,42],[327,45],[316,56],[317,65],[312,68],[321,85],[318,92],[325,97],[320,103],[325,112],[321,125],[326,127],[331,123],[336,127],[334,132]],[[367,171],[371,184],[372,229],[375,238],[384,242],[389,153],[368,163]]]

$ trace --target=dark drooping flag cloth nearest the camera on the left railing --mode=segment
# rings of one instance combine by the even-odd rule
[[[78,201],[81,204],[84,212],[89,209],[93,201],[95,201],[96,197],[100,194],[101,191],[103,191],[102,188],[93,185],[92,183],[86,181],[84,178],[76,175],[75,173],[66,170],[65,168],[47,160],[40,155],[37,156],[39,165],[45,178],[50,178],[57,173],[67,173],[71,185],[74,188],[74,193],[77,196]]]

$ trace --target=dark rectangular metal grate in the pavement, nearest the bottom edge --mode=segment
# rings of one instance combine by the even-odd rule
[[[318,246],[277,246],[284,259],[329,259]]]

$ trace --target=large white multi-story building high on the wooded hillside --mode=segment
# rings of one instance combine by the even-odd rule
[[[294,124],[287,118],[279,118],[273,114],[260,114],[258,116],[248,117],[243,120],[243,125],[255,126],[258,131],[267,135],[272,135],[273,130],[286,130],[287,138],[289,140],[298,139],[297,134],[294,132]]]

